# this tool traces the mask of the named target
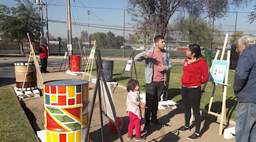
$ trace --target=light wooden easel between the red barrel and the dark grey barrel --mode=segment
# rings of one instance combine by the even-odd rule
[[[96,40],[94,40],[94,45],[92,47],[92,50],[90,50],[90,56],[89,56],[89,60],[88,62],[86,63],[86,67],[84,69],[84,75],[87,74],[89,75],[89,81],[90,81],[90,76],[92,75],[92,65],[93,65],[93,61],[95,59],[95,50],[96,50],[96,47],[95,47],[95,44],[96,44]],[[87,68],[88,67],[88,68]],[[89,73],[90,71],[90,73]],[[84,79],[84,75],[82,75],[82,79]]]

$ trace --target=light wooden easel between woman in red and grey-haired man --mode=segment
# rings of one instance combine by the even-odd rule
[[[230,86],[227,84],[227,80],[228,80],[228,76],[229,76],[229,63],[230,63],[230,50],[227,51],[227,60],[223,60],[224,54],[225,54],[225,48],[227,46],[227,38],[228,38],[228,34],[226,34],[225,36],[225,42],[223,44],[223,49],[221,52],[221,58],[217,59],[217,57],[219,57],[219,50],[217,50],[217,53],[215,54],[215,57],[213,59],[213,64],[211,65],[211,68],[209,69],[209,75],[211,75],[211,72],[213,71],[213,65],[215,63],[215,61],[223,61],[223,62],[227,62],[227,69],[226,69],[226,73],[225,73],[225,79],[224,79],[224,83],[215,83],[213,82],[213,90],[211,93],[211,98],[209,100],[209,108],[208,108],[208,114],[211,114],[213,116],[217,116],[220,117],[220,124],[219,124],[219,135],[222,135],[222,131],[223,131],[223,124],[227,125],[227,116],[226,116],[226,96],[227,96],[227,86]],[[206,88],[207,83],[205,83],[203,85],[203,89],[201,90],[201,95],[203,94],[203,92],[205,92],[205,88]],[[222,106],[221,106],[221,113],[217,114],[216,112],[211,112],[211,106],[213,104],[213,97],[214,97],[214,93],[215,93],[215,89],[217,85],[223,85],[223,98],[222,98]],[[190,124],[192,124],[192,120],[193,120],[193,114],[192,117],[190,118]]]

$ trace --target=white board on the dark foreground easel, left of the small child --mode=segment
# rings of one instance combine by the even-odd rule
[[[108,98],[108,94],[106,94],[106,88],[104,86],[104,83],[102,80],[100,80],[100,94],[101,94],[101,98],[102,98],[102,102],[103,102],[104,112],[113,122],[116,122],[114,119],[113,111],[112,111],[112,108],[110,106],[110,101],[109,101],[111,99],[113,102],[113,105],[114,105],[114,100],[112,97],[110,84],[106,83],[106,85],[108,86],[108,91],[110,92],[111,98]]]

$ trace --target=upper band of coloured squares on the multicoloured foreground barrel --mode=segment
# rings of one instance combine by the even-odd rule
[[[88,100],[88,83],[76,86],[43,86],[44,102],[51,106],[76,106]]]

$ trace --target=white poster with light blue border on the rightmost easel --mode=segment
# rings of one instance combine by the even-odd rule
[[[227,71],[227,62],[214,61],[213,69],[211,71],[211,77],[209,81],[214,83],[223,83],[225,79],[226,71]]]

